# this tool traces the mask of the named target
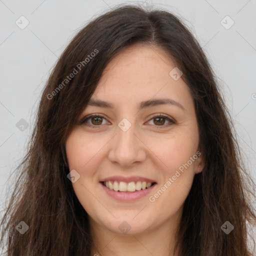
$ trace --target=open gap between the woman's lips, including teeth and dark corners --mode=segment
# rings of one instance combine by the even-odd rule
[[[148,182],[145,180],[137,180],[130,182],[107,180],[100,181],[100,183],[110,190],[122,193],[134,193],[141,190],[147,190],[156,184],[156,182]]]

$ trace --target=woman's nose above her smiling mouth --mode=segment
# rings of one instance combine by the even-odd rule
[[[135,125],[132,124],[126,131],[117,126],[116,132],[111,139],[108,159],[122,167],[142,162],[146,157],[146,146],[141,142]]]

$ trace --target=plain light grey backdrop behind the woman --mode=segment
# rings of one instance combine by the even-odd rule
[[[0,0],[0,209],[57,58],[91,18],[120,3],[169,10],[187,24],[210,60],[255,181],[256,0]],[[20,122],[28,124],[23,131]]]

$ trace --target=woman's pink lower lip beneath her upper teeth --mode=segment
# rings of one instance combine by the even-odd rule
[[[115,191],[115,190],[107,188],[101,182],[99,182],[99,183],[109,196],[111,196],[112,198],[114,198],[118,201],[135,201],[135,200],[138,200],[141,197],[147,195],[150,191],[152,191],[152,189],[156,185],[156,183],[155,183],[155,184],[153,184],[152,186],[150,186],[146,189],[137,190],[135,192],[120,192],[120,191]]]

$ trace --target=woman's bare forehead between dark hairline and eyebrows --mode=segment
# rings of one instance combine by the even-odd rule
[[[175,61],[163,49],[155,45],[131,45],[108,62],[93,94],[120,103],[154,96],[170,96],[174,100],[183,97],[181,101],[185,101],[191,98],[188,87],[182,76],[177,80],[171,77],[173,68]]]

